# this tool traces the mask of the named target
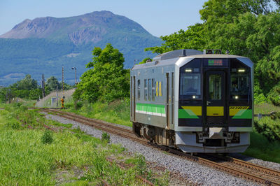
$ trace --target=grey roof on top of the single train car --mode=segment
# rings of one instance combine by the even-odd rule
[[[186,57],[186,58],[246,58],[244,56],[239,55],[222,55],[222,54],[204,54],[200,50],[193,50],[193,49],[181,49],[181,50],[174,50],[171,52],[165,52],[163,54],[157,55],[153,58],[152,62],[146,62],[145,64],[137,64],[132,67],[134,69],[143,69],[152,66],[166,66],[175,64],[179,58]],[[248,59],[250,62],[251,60]],[[251,62],[253,64],[253,62]],[[251,65],[250,65],[251,66]]]

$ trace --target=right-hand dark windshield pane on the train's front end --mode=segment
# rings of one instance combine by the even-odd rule
[[[250,69],[237,59],[230,59],[230,98],[248,99],[250,94]]]

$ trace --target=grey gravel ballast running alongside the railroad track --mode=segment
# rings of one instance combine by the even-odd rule
[[[102,137],[102,131],[98,129],[94,129],[85,124],[80,124],[79,122],[68,120],[57,115],[48,115],[47,113],[45,114],[49,120],[56,120],[57,122],[61,122],[63,124],[71,123],[73,124],[73,128],[80,127],[82,131],[85,131],[85,133],[90,134],[91,136],[96,138]],[[165,152],[161,152],[160,150],[135,143],[130,139],[113,134],[111,134],[111,143],[120,143],[124,148],[127,149],[127,151],[134,154],[142,154],[148,162],[153,162],[158,164],[158,166],[164,166],[169,171],[179,173],[181,176],[185,176],[188,180],[191,180],[193,183],[197,183],[199,185],[258,185],[248,180],[232,176],[228,173],[211,169],[207,166],[202,166],[197,162],[192,162],[180,157],[169,155]],[[244,159],[246,158],[244,157]],[[268,166],[272,169],[279,169],[280,167],[280,164],[265,162],[260,159],[251,158],[250,162],[253,162],[254,164],[260,164],[262,166]]]

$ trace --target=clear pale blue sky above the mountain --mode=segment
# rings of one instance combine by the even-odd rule
[[[109,10],[141,24],[153,36],[186,30],[200,20],[207,0],[0,0],[0,35],[36,17],[71,17]]]

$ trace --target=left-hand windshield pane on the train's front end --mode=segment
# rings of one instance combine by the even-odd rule
[[[201,59],[193,59],[180,69],[180,98],[201,99]]]

